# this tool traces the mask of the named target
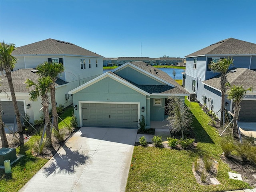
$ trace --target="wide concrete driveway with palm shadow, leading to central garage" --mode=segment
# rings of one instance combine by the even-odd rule
[[[125,191],[136,134],[82,127],[20,192]]]

